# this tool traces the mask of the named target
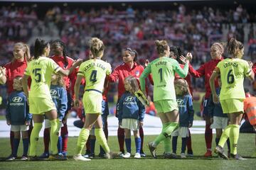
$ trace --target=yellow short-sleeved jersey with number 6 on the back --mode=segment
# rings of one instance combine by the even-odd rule
[[[248,62],[227,58],[219,62],[216,69],[219,69],[221,78],[220,100],[245,98],[243,82],[252,74]]]

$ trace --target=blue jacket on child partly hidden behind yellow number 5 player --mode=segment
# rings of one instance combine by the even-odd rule
[[[65,111],[67,111],[68,108],[67,91],[62,86],[50,85],[50,96],[57,108],[59,120],[63,120]]]

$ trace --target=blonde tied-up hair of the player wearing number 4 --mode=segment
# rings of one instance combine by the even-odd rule
[[[89,44],[90,51],[92,52],[93,57],[100,57],[105,49],[105,45],[103,44],[102,40],[100,40],[99,38],[92,38],[89,40]]]

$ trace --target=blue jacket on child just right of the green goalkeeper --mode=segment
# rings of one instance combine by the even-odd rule
[[[188,127],[189,123],[193,123],[192,97],[190,95],[176,96],[176,101],[178,103],[179,126]]]

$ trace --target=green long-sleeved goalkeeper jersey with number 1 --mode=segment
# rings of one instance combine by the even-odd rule
[[[178,62],[169,57],[160,57],[144,69],[139,81],[142,91],[145,90],[145,79],[151,73],[154,81],[154,101],[160,100],[176,100],[174,89],[175,73],[182,78],[188,74],[188,64],[181,69]]]

